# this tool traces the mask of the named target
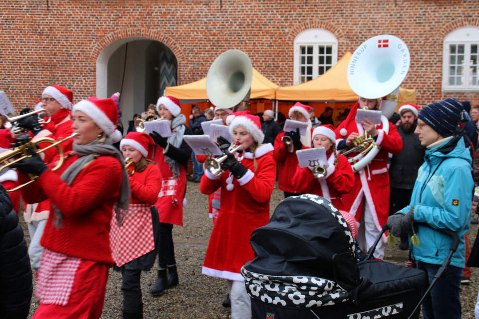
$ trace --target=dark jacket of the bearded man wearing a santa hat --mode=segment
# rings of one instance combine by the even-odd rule
[[[413,189],[419,167],[424,162],[426,147],[421,145],[419,136],[414,132],[407,134],[398,126],[398,133],[403,140],[403,149],[391,159],[390,185],[395,188]]]

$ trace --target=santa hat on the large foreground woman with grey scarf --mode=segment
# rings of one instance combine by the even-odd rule
[[[102,100],[93,96],[75,104],[73,114],[76,111],[83,112],[92,119],[112,139],[112,143],[121,140],[122,135],[117,130],[118,108],[112,98]]]

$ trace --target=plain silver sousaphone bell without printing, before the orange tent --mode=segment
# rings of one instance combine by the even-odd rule
[[[246,53],[228,50],[210,66],[206,78],[208,99],[221,109],[245,111],[249,104],[253,66]]]

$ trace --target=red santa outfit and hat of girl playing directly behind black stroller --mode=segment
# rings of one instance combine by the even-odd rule
[[[354,185],[354,172],[348,160],[336,153],[336,135],[331,124],[318,126],[313,130],[311,139],[318,134],[324,135],[333,143],[326,151],[328,158],[327,175],[321,179],[313,176],[310,167],[297,167],[292,184],[302,193],[319,195],[330,201],[337,209],[343,209],[341,197],[351,191]],[[337,159],[337,162],[336,162]]]

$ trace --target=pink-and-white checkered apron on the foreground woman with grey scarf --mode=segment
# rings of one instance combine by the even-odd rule
[[[68,305],[80,264],[81,258],[43,249],[35,293],[42,305]]]

